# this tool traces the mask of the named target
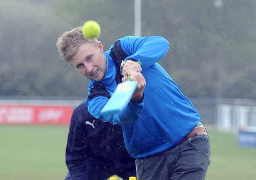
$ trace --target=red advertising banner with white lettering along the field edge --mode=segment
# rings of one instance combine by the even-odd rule
[[[73,106],[0,105],[0,124],[69,124]]]

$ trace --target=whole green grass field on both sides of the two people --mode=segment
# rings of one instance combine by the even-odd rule
[[[207,180],[256,180],[256,148],[210,130]],[[63,180],[68,126],[0,126],[0,180]]]

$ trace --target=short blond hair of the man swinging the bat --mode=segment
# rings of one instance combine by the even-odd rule
[[[84,43],[97,43],[97,39],[86,39],[82,33],[82,27],[75,27],[64,32],[57,40],[57,48],[63,60],[69,61],[76,54],[78,48]]]

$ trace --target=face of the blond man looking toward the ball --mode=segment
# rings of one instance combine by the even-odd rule
[[[101,81],[106,73],[106,57],[102,43],[98,41],[97,44],[82,44],[69,63],[87,78]]]

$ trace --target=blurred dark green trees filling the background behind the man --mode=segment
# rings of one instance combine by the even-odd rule
[[[0,1],[0,96],[84,97],[56,41],[93,19],[105,50],[133,35],[133,1]],[[160,64],[188,97],[256,97],[256,1],[142,0],[142,36],[169,40]]]

